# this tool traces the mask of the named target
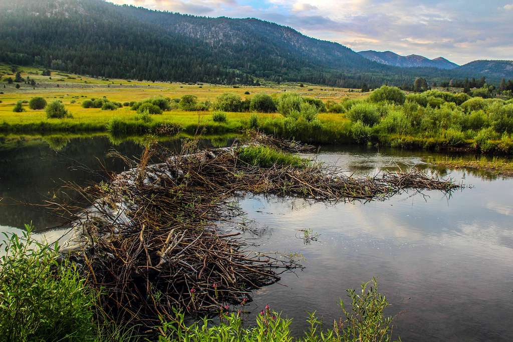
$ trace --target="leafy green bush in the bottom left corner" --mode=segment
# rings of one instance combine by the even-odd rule
[[[0,258],[0,336],[6,341],[83,341],[97,334],[97,295],[58,246],[12,235]]]

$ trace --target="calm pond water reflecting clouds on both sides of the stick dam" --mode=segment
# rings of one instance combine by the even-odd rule
[[[208,142],[204,142],[209,145]],[[218,143],[219,144],[219,143]],[[109,170],[123,165],[105,158],[106,137],[71,139],[52,150],[45,142],[2,148],[0,198],[42,202],[64,180],[92,179],[81,166]],[[178,150],[180,142],[168,143]],[[55,148],[55,146],[54,146]],[[137,155],[142,146],[115,146]],[[356,175],[399,165],[425,167],[430,153],[367,149],[324,149],[319,159]],[[248,309],[266,304],[293,317],[295,333],[305,328],[307,312],[317,310],[329,326],[338,318],[346,288],[376,276],[392,304],[394,334],[403,340],[513,339],[513,180],[462,171],[435,170],[472,185],[445,196],[404,193],[385,202],[325,205],[301,199],[246,196],[239,204],[253,220],[245,233],[261,251],[299,253],[304,271],[286,273],[281,284],[255,294]],[[101,179],[95,176],[95,179]],[[0,229],[32,220],[39,230],[58,220],[27,206],[0,206]],[[297,230],[311,229],[318,241],[305,244]],[[57,236],[59,231],[50,233]]]

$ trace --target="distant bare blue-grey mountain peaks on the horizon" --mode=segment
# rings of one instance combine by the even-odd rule
[[[392,51],[379,52],[374,50],[360,51],[358,53],[370,59],[370,61],[403,68],[425,67],[450,70],[458,67],[458,64],[447,61],[444,57],[428,59],[419,55],[401,56]]]

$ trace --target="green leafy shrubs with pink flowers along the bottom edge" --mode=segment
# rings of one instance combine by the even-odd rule
[[[370,285],[369,285],[370,284]],[[247,341],[247,342],[377,342],[392,340],[392,317],[384,314],[389,306],[385,295],[378,292],[376,279],[361,286],[360,291],[348,289],[350,308],[343,300],[340,306],[343,317],[335,321],[331,329],[323,330],[322,321],[310,313],[308,329],[303,336],[293,338],[291,319],[266,306],[257,316],[254,327],[245,328],[238,314],[224,315],[221,324],[212,326],[207,318],[190,326],[185,324],[183,313],[175,312],[171,321],[163,321],[159,327],[160,342],[174,341]]]

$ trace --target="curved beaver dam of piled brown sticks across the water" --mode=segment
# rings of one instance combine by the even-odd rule
[[[301,267],[286,255],[259,253],[226,228],[238,227],[237,194],[340,202],[462,187],[416,169],[352,177],[291,153],[308,149],[257,133],[230,148],[189,142],[173,156],[152,146],[140,160],[124,158],[130,169],[107,182],[69,185],[87,201],[59,206],[80,232],[81,248],[71,254],[102,290],[106,312],[151,328],[173,308],[194,315],[245,304],[253,290]],[[161,162],[150,165],[155,159]]]

